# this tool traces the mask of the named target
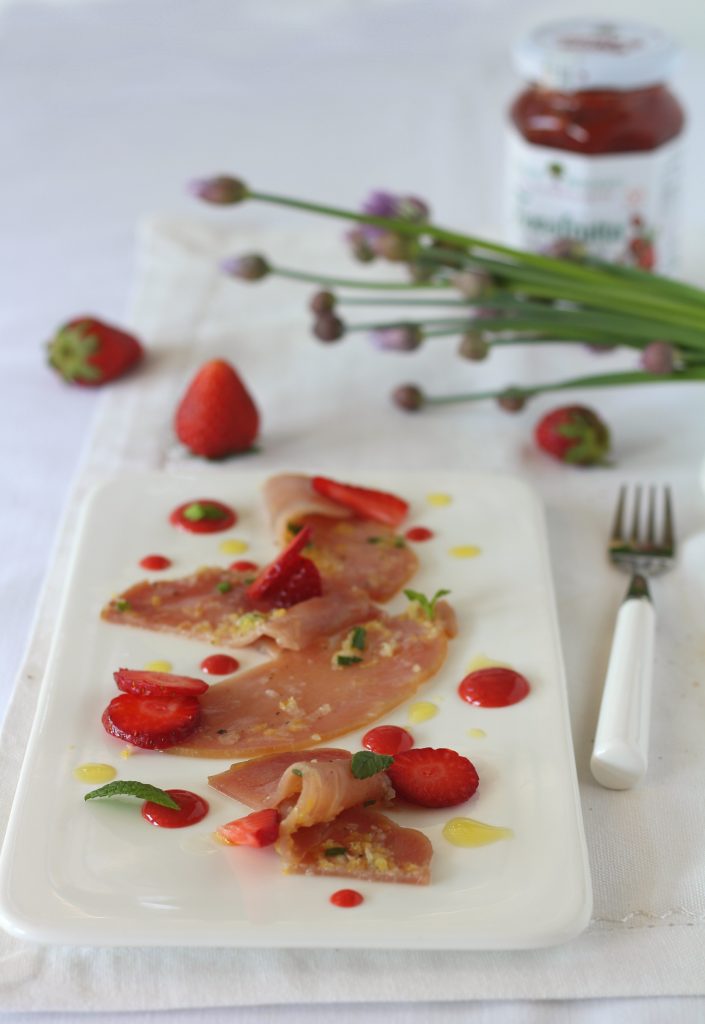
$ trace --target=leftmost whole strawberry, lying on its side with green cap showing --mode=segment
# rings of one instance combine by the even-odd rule
[[[64,380],[84,387],[108,384],[127,373],[144,354],[137,339],[93,316],[79,316],[59,328],[48,345],[49,366]]]

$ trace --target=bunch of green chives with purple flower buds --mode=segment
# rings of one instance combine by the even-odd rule
[[[224,262],[226,272],[246,281],[268,274],[316,285],[314,333],[322,341],[369,331],[380,348],[411,350],[455,334],[468,358],[484,358],[497,346],[541,343],[638,353],[633,370],[526,387],[425,395],[404,385],[396,392],[402,408],[494,398],[508,409],[543,392],[705,381],[705,292],[693,285],[588,259],[575,247],[558,258],[452,230],[430,222],[425,204],[411,197],[376,194],[360,212],[258,191],[227,176],[195,182],[193,191],[220,205],[250,200],[345,221],[363,262],[406,266],[411,280],[380,281],[273,265],[259,255]],[[355,315],[362,306],[387,306],[395,318],[342,318],[343,310]]]

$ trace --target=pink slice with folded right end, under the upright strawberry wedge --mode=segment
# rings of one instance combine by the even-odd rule
[[[337,587],[290,608],[263,609],[247,597],[250,579],[232,569],[204,568],[180,580],[142,581],[111,601],[101,615],[121,626],[191,637],[226,649],[268,637],[280,647],[299,650],[375,611],[364,591]]]

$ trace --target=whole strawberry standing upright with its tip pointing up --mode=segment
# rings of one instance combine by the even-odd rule
[[[221,459],[252,447],[259,413],[230,362],[211,359],[201,367],[181,398],[174,429],[194,455]]]

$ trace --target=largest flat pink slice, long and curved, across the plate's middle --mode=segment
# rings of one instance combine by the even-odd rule
[[[364,649],[352,646],[360,630]],[[212,685],[199,697],[200,724],[169,753],[255,757],[302,750],[366,727],[439,671],[454,633],[452,609],[439,602],[433,622],[415,611],[379,612],[304,650],[281,651]]]

